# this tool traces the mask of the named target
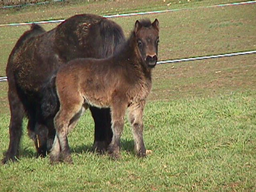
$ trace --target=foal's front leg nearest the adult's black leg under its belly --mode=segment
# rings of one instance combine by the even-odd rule
[[[124,129],[125,104],[111,108],[113,138],[108,147],[108,153],[114,159],[120,157],[120,138]]]

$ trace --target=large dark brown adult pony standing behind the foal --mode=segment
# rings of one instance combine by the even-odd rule
[[[75,15],[46,32],[38,25],[20,36],[6,67],[11,120],[10,143],[2,163],[15,161],[22,135],[22,120],[28,117],[28,133],[38,156],[51,148],[53,117],[42,115],[44,84],[64,63],[75,58],[106,58],[124,42],[122,28],[98,15]],[[93,150],[106,150],[112,138],[109,109],[90,108],[95,121]]]

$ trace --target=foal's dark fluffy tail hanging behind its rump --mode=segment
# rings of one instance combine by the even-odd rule
[[[56,74],[44,84],[42,88],[42,100],[41,109],[42,117],[46,120],[48,118],[54,118],[58,110],[60,109],[60,101],[56,92]]]

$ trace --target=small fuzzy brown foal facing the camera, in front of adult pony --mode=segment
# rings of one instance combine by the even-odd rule
[[[143,109],[150,93],[151,70],[157,63],[159,22],[136,21],[124,47],[107,59],[76,59],[63,65],[56,74],[60,111],[54,118],[56,136],[51,149],[52,163],[72,162],[67,134],[89,106],[110,108],[113,139],[108,152],[120,156],[120,137],[125,111],[135,140],[138,156],[146,156],[143,141]]]

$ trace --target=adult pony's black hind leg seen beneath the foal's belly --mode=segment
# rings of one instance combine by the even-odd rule
[[[111,114],[109,109],[91,107],[90,111],[95,123],[93,151],[103,154],[111,143],[113,132],[111,129]]]

